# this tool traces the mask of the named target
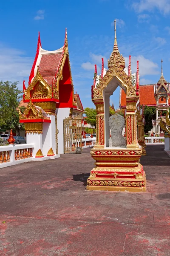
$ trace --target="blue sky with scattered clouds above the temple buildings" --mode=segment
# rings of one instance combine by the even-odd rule
[[[91,102],[94,64],[101,68],[113,49],[113,20],[119,51],[128,64],[132,55],[132,72],[139,60],[140,84],[156,83],[161,74],[169,81],[170,0],[29,0],[2,1],[0,6],[0,80],[28,81],[37,49],[38,31],[42,48],[62,47],[65,27],[74,90],[83,107]],[[119,91],[111,99],[119,105]]]

